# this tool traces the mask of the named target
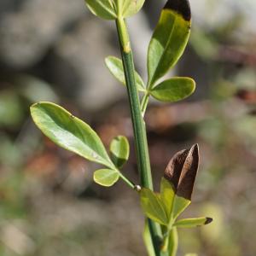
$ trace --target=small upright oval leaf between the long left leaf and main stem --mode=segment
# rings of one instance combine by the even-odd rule
[[[113,164],[118,168],[125,165],[125,162],[129,158],[130,146],[126,137],[118,136],[114,137],[110,143],[110,157]]]

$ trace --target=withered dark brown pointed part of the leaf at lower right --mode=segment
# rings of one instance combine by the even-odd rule
[[[190,149],[177,152],[166,167],[165,177],[169,180],[176,194],[191,200],[195,176],[199,165],[199,149],[195,144]]]

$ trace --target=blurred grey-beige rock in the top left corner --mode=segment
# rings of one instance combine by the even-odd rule
[[[2,9],[14,9],[0,22],[0,57],[16,68],[35,64],[63,29],[85,14],[83,1],[27,0],[16,11],[15,1],[4,3]]]

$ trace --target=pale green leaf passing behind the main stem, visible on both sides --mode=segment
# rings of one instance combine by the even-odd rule
[[[112,73],[113,76],[116,79],[118,79],[120,83],[125,84],[125,73],[124,73],[123,62],[117,57],[108,56],[105,59],[105,63],[110,73]],[[145,91],[145,84],[143,82],[143,79],[140,77],[140,75],[137,72],[135,72],[135,81],[137,84],[137,90]]]

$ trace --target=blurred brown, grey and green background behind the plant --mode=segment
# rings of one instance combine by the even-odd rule
[[[146,0],[129,20],[137,70],[165,1]],[[180,230],[178,255],[256,255],[256,2],[193,0],[189,46],[171,75],[191,76],[195,94],[176,104],[151,102],[146,114],[155,188],[172,155],[193,143],[201,167],[183,216],[210,216],[207,227]],[[0,255],[144,256],[137,195],[119,182],[92,183],[98,166],[42,136],[33,102],[61,104],[92,125],[108,147],[121,134],[138,181],[125,88],[104,57],[119,56],[113,22],[83,0],[0,2]]]

